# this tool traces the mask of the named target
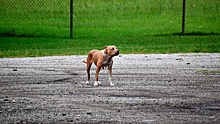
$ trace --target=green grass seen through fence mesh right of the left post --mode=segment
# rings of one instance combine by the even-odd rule
[[[219,5],[215,0],[187,1],[186,32],[220,33]],[[78,2],[75,8],[76,38],[181,32],[182,0]]]

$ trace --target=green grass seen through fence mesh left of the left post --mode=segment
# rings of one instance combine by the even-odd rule
[[[0,34],[32,37],[67,37],[67,0],[1,0]]]

